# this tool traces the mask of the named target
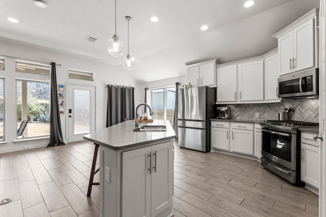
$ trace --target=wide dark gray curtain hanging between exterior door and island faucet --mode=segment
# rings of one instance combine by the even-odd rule
[[[134,87],[107,85],[106,127],[134,117]]]

